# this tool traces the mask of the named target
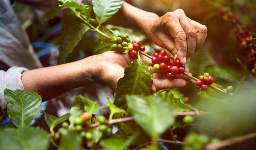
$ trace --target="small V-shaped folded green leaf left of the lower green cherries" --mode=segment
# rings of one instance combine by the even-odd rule
[[[44,119],[46,121],[46,124],[49,126],[50,128],[50,132],[54,132],[53,129],[60,123],[68,120],[70,113],[64,114],[63,116],[61,116],[60,118],[56,117],[56,116],[52,116],[50,114],[47,114],[46,112],[44,112],[43,110],[41,111],[44,114]]]

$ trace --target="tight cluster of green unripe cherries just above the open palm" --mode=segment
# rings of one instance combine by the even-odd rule
[[[128,34],[118,34],[117,37],[113,38],[114,44],[112,45],[112,50],[122,53],[128,49],[128,43],[130,38]]]

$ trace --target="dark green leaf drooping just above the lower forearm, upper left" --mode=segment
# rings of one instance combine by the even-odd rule
[[[81,40],[82,36],[90,27],[86,24],[80,23],[70,26],[68,31],[64,34],[62,43],[60,45],[59,64],[63,64],[68,57],[68,54],[73,52],[74,47]]]

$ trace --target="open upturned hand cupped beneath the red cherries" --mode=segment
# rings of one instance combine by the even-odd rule
[[[117,82],[124,76],[124,68],[128,67],[134,60],[128,54],[119,54],[114,51],[104,52],[100,54],[100,79],[99,82],[109,86],[112,90],[116,89]],[[151,64],[150,58],[141,55],[141,58]],[[166,72],[153,70],[153,92],[168,88],[177,88],[186,86],[186,80],[189,80],[184,75],[179,79],[168,79]],[[188,72],[188,68],[185,69]]]

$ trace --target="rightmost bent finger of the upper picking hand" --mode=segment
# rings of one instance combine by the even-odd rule
[[[195,52],[196,52],[204,44],[204,41],[205,41],[206,36],[207,36],[207,27],[205,25],[202,25],[202,24],[194,21],[194,20],[191,20],[191,19],[189,19],[189,20],[193,24],[193,26],[194,26],[194,28],[196,29],[196,32],[197,32],[196,49],[195,49]]]

